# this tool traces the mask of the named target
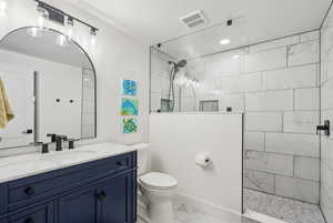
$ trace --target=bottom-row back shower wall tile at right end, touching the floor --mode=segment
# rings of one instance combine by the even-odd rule
[[[275,175],[275,194],[317,204],[319,182]]]

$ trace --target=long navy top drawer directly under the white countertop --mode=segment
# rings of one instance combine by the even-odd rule
[[[130,153],[11,182],[9,183],[9,210],[131,170],[135,165],[133,158],[135,158],[134,153]]]

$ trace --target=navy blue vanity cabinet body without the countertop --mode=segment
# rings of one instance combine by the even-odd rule
[[[135,223],[137,152],[0,184],[0,223]]]

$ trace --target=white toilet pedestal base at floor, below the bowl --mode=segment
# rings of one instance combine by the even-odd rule
[[[151,223],[173,223],[172,202],[151,202],[148,214]]]

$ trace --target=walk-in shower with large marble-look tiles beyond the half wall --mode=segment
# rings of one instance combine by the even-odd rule
[[[332,212],[331,166],[325,164],[330,159],[325,146],[330,146],[331,139],[322,138],[320,142],[316,134],[320,108],[323,120],[332,113],[327,102],[332,87],[326,74],[330,41],[323,40],[331,37],[327,26],[329,21],[322,30],[194,57],[186,54],[184,48],[174,51],[184,40],[151,49],[151,112],[170,112],[165,105],[170,102],[169,61],[185,58],[188,65],[179,77],[188,81],[175,80],[173,112],[244,113],[244,211],[266,211],[290,222],[301,222],[297,217],[303,215],[303,222],[309,223],[324,222],[320,204],[326,217]],[[297,213],[284,216],[261,209],[266,205],[264,200],[299,205]]]

